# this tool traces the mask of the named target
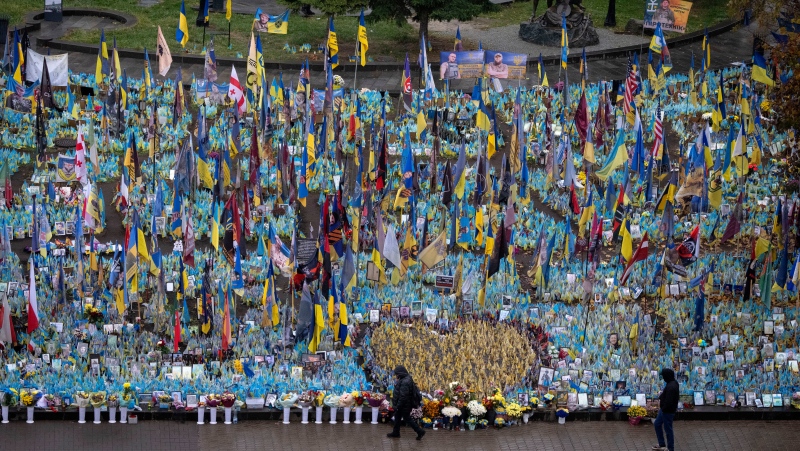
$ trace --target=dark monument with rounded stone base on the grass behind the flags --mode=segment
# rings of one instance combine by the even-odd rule
[[[592,21],[586,16],[581,0],[558,0],[555,5],[530,22],[519,25],[519,37],[523,41],[550,47],[561,46],[561,18],[567,20],[567,36],[572,48],[600,43]]]

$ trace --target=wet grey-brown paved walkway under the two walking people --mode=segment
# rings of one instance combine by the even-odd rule
[[[677,450],[797,449],[800,422],[679,421]],[[655,433],[649,424],[627,422],[533,422],[505,430],[450,432],[429,430],[421,442],[411,429],[389,439],[386,425],[283,425],[253,421],[236,425],[196,425],[147,421],[138,425],[76,424],[62,421],[12,422],[0,426],[0,450],[649,450]]]

